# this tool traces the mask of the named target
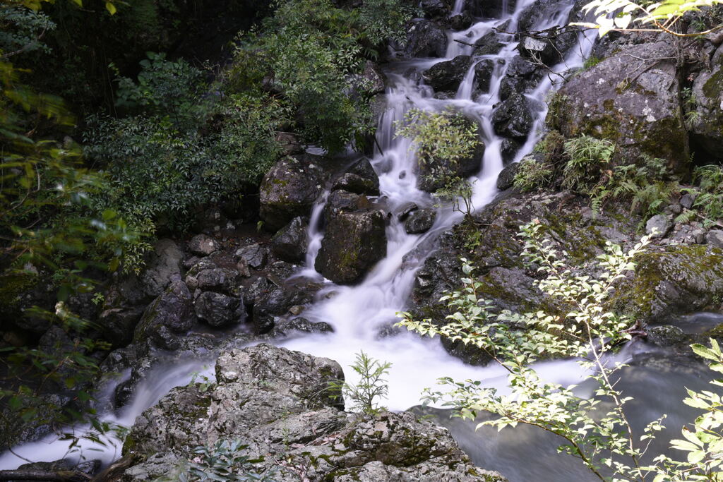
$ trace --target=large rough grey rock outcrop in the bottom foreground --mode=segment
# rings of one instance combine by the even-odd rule
[[[137,418],[124,445],[127,465],[116,481],[145,481],[177,473],[179,462],[201,444],[241,439],[246,455],[262,458],[260,472],[274,480],[504,482],[474,467],[449,432],[411,413],[362,417],[345,413],[343,379],[327,358],[257,345],[223,353],[216,384],[171,390]],[[291,461],[279,465],[277,460]],[[291,469],[291,470],[290,470]]]

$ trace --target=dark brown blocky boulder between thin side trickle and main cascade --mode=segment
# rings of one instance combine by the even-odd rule
[[[382,212],[339,212],[326,227],[315,269],[334,283],[349,285],[386,255]]]

